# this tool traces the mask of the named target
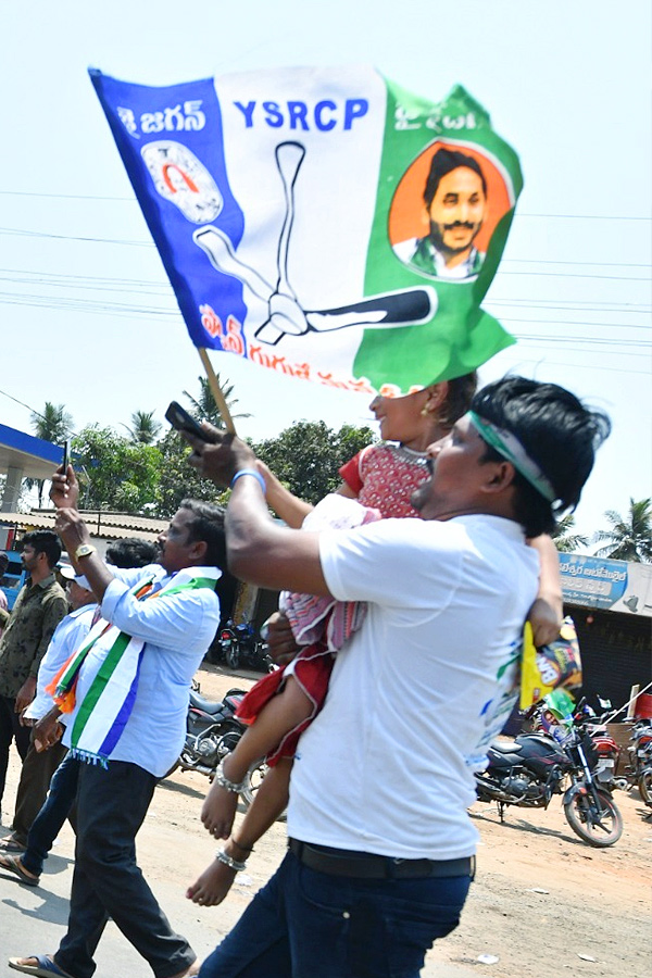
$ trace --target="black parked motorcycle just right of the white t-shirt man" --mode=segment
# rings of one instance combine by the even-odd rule
[[[610,792],[598,787],[597,764],[586,730],[572,727],[564,743],[544,734],[521,734],[489,749],[487,768],[475,774],[476,794],[478,801],[498,803],[501,822],[507,805],[547,808],[553,794],[562,794],[573,831],[589,845],[605,848],[623,835],[623,817]]]

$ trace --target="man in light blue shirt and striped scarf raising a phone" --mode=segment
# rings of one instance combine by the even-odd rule
[[[158,780],[179,755],[190,681],[220,622],[224,513],[184,500],[161,534],[159,562],[123,570],[106,565],[90,542],[71,466],[54,474],[51,498],[57,531],[102,618],[60,677],[55,697],[70,711],[64,744],[82,762],[67,931],[53,956],[9,964],[28,975],[91,978],[111,917],[155,978],[184,978],[196,954],[173,931],[138,868],[135,838]],[[53,731],[57,716],[51,719]],[[53,732],[42,720],[39,726],[48,742]]]

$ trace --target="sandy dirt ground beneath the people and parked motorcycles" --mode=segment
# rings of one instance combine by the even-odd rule
[[[221,698],[233,686],[246,688],[253,678],[215,666],[198,674],[201,693],[210,699]],[[185,886],[215,851],[198,817],[206,788],[202,775],[175,772],[156,790],[138,838],[139,863],[153,889],[165,898],[166,911],[175,921],[175,913],[192,911],[189,921],[201,935],[199,943],[193,940],[200,954],[233,926],[285,850],[285,825],[277,823],[222,906],[193,907],[185,901]],[[428,954],[424,976],[650,978],[652,822],[645,819],[649,810],[636,791],[617,792],[616,803],[625,830],[619,842],[605,850],[592,849],[574,835],[559,797],[547,812],[509,810],[504,825],[494,806],[476,804],[472,817],[481,835],[478,876],[461,926]],[[55,852],[70,860],[73,851],[66,826]],[[170,893],[175,894],[176,911],[170,906]],[[490,955],[491,963],[478,962],[481,955]],[[114,970],[100,968],[100,974]]]

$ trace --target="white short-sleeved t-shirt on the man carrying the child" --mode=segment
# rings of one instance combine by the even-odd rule
[[[330,592],[369,607],[300,740],[288,833],[397,858],[471,855],[473,768],[506,719],[538,555],[516,523],[485,515],[385,519],[323,532],[319,550]]]

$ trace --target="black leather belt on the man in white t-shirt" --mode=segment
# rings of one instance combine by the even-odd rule
[[[369,852],[349,852],[288,839],[297,858],[317,873],[358,879],[427,879],[428,877],[475,876],[475,856],[461,860],[396,860]]]

